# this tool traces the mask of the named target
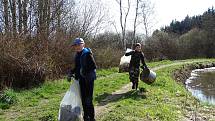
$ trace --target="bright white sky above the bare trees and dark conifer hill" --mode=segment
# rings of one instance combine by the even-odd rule
[[[124,3],[127,0],[122,0]],[[136,1],[136,0],[130,0]],[[111,18],[118,23],[119,28],[119,5],[115,0],[103,0],[106,6],[109,6],[109,14]],[[155,19],[153,30],[160,29],[165,25],[169,25],[172,20],[181,21],[187,15],[202,15],[208,8],[215,6],[215,0],[151,0],[154,3]],[[135,6],[132,5],[131,13],[128,18],[128,29],[132,29]],[[129,23],[130,22],[130,23]],[[139,28],[141,29],[141,28]]]

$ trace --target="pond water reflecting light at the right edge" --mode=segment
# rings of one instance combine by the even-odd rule
[[[199,100],[215,105],[215,67],[193,70],[186,88]]]

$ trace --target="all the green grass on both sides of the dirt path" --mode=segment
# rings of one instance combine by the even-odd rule
[[[191,61],[209,61],[205,59],[183,61],[161,61],[147,63],[152,67],[166,64],[183,63]],[[175,65],[156,71],[157,80],[153,85],[140,83],[147,92],[140,94],[138,91],[129,91],[125,96],[111,102],[111,112],[99,117],[104,121],[131,121],[131,120],[180,120],[189,108],[195,110],[198,102],[186,91],[182,84],[176,83],[171,74],[181,65]],[[97,71],[95,81],[94,103],[98,104],[112,92],[129,83],[127,73],[118,73],[118,68],[102,69]],[[8,90],[8,95],[14,95],[16,103],[0,109],[2,121],[55,121],[61,99],[69,88],[66,80],[47,81],[40,87],[30,90]],[[201,106],[201,105],[198,105]],[[212,107],[212,109],[214,109]]]

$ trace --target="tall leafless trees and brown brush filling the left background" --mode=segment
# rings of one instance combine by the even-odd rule
[[[0,90],[61,78],[73,66],[71,41],[90,45],[105,20],[95,0],[1,0]]]

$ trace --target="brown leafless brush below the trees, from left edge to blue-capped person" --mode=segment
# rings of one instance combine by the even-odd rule
[[[0,90],[31,88],[43,83],[46,77],[59,78],[64,74],[72,59],[68,58],[66,41],[59,41],[1,37]]]

